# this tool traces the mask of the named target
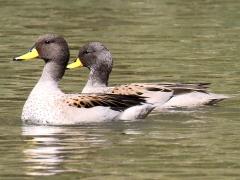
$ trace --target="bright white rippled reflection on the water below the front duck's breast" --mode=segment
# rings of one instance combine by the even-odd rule
[[[63,129],[59,127],[23,126],[22,135],[28,137],[24,149],[25,162],[29,163],[27,175],[50,175],[59,170],[64,147],[57,135],[62,132]]]

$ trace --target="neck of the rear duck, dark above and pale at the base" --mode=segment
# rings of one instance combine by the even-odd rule
[[[104,68],[104,67],[92,68],[88,76],[88,81],[85,87],[83,88],[82,92],[88,93],[90,92],[91,89],[94,89],[94,88],[107,87],[110,73],[111,73],[111,70],[109,70],[108,68]]]

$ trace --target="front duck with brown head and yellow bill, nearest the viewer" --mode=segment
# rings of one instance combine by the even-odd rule
[[[67,41],[59,35],[40,36],[29,52],[14,61],[40,58],[45,65],[22,110],[27,124],[72,125],[145,118],[154,108],[137,95],[107,93],[65,94],[58,87],[70,57]]]

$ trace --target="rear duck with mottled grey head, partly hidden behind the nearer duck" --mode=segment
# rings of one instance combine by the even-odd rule
[[[113,58],[101,42],[90,42],[80,48],[78,57],[67,65],[67,69],[77,67],[90,70],[82,93],[137,94],[148,97],[147,102],[155,104],[156,111],[214,105],[228,98],[226,95],[208,92],[210,83],[130,83],[109,87]]]

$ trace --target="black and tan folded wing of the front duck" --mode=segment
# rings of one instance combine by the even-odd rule
[[[119,94],[76,94],[64,99],[69,106],[77,108],[92,108],[95,106],[110,107],[123,111],[129,107],[145,103],[145,97]]]

